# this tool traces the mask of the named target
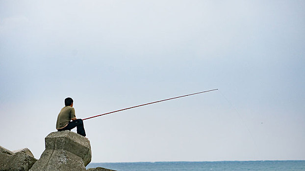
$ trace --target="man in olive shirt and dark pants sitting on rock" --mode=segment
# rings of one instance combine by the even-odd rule
[[[75,127],[78,134],[86,136],[82,119],[76,119],[73,99],[68,97],[65,99],[65,107],[60,110],[57,116],[56,129],[62,131],[71,130]]]

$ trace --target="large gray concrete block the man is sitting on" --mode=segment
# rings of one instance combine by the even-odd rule
[[[45,138],[46,150],[30,171],[86,171],[91,161],[90,141],[69,130]]]

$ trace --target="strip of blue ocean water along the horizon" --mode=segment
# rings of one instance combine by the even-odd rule
[[[116,171],[305,171],[305,160],[90,163],[87,169],[96,167]]]

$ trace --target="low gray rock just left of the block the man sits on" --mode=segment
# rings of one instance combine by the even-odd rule
[[[24,152],[17,152],[8,159],[3,171],[28,171],[36,161]]]

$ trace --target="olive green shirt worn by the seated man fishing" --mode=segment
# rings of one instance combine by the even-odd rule
[[[74,118],[76,119],[75,109],[70,106],[63,107],[57,116],[56,129],[65,128]]]

